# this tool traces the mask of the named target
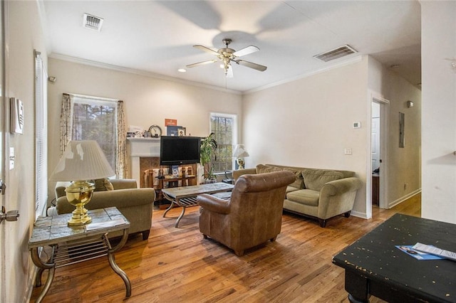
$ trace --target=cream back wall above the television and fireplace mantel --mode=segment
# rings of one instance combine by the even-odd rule
[[[60,156],[59,125],[63,92],[123,100],[127,125],[148,129],[150,125],[158,124],[164,134],[165,118],[170,118],[187,127],[187,134],[207,136],[210,112],[238,115],[238,127],[242,129],[242,95],[237,93],[55,58],[49,58],[48,74],[57,78],[56,83],[48,85],[49,171],[53,171]],[[55,183],[50,182],[50,198],[53,198],[54,186]]]

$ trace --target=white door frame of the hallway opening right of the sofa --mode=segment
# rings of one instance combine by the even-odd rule
[[[372,102],[380,105],[380,186],[379,186],[379,203],[380,208],[388,208],[388,134],[389,134],[389,112],[390,101],[385,99],[377,92],[371,92],[369,97],[369,144],[368,144],[368,165],[366,176],[366,215],[372,218]]]

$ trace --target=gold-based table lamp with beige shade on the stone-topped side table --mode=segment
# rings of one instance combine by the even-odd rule
[[[51,174],[51,181],[71,181],[65,188],[66,198],[76,206],[68,226],[88,224],[84,206],[90,202],[95,185],[88,180],[102,179],[115,173],[96,141],[70,141]]]

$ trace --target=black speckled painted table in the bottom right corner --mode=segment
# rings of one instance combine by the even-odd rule
[[[456,251],[456,225],[395,214],[333,257],[350,302],[456,302],[456,262],[417,260],[395,248],[420,242]]]

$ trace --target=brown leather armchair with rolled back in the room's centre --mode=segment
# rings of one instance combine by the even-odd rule
[[[276,240],[282,223],[286,186],[295,181],[290,171],[244,175],[231,198],[202,194],[199,231],[234,250],[238,256],[267,240]]]

